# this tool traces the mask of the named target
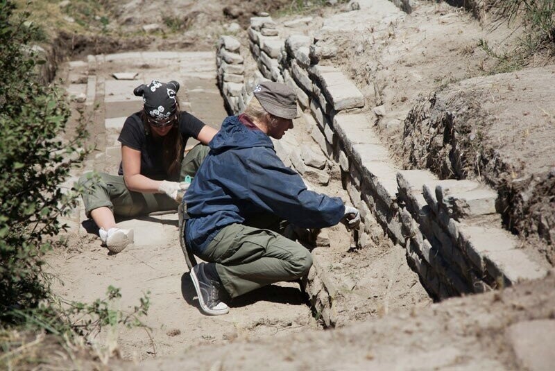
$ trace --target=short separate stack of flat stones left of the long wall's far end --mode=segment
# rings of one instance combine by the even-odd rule
[[[222,36],[218,40],[216,66],[218,67],[218,86],[222,92],[225,109],[229,113],[243,110],[245,67],[240,50],[241,43],[231,36]]]

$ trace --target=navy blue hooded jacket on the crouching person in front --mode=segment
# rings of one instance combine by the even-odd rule
[[[185,194],[185,241],[203,251],[226,225],[270,212],[304,228],[330,227],[345,212],[343,201],[309,191],[300,175],[275,154],[264,132],[249,129],[237,116],[222,123],[210,153]]]

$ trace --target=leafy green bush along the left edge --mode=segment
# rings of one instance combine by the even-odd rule
[[[62,90],[39,83],[33,51],[40,29],[14,14],[12,1],[0,0],[0,321],[15,310],[36,307],[49,297],[42,257],[51,237],[65,225],[74,195],[60,184],[82,161],[84,130],[62,138],[69,107]]]

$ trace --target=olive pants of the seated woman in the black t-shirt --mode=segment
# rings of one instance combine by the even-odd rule
[[[210,148],[197,144],[183,158],[181,162],[180,178],[186,175],[194,177]],[[85,215],[90,218],[90,212],[99,207],[109,207],[114,215],[132,217],[151,212],[176,210],[178,203],[162,193],[141,193],[127,189],[122,175],[99,173],[100,178],[94,178],[91,173],[82,175],[78,184],[85,188],[83,203]]]

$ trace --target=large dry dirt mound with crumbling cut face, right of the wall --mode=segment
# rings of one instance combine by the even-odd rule
[[[555,67],[471,78],[423,98],[404,123],[406,166],[484,180],[509,229],[555,264]]]

